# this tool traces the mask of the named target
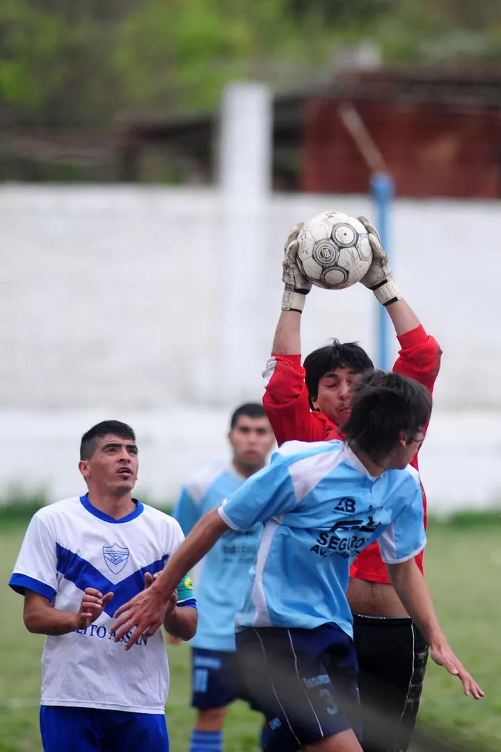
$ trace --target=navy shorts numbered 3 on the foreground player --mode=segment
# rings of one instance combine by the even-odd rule
[[[270,727],[267,752],[297,752],[346,729],[360,738],[357,659],[342,629],[249,627],[237,633],[237,656]]]

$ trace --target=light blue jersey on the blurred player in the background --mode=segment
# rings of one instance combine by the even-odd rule
[[[207,511],[222,504],[244,481],[232,462],[209,465],[192,476],[173,512],[184,534],[188,535]],[[243,602],[261,531],[259,523],[241,531],[229,530],[195,570],[198,629],[193,647],[235,650],[235,614]]]

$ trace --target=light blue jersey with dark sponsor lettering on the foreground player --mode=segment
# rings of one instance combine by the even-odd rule
[[[373,478],[343,441],[282,444],[219,514],[234,530],[264,523],[237,629],[336,623],[352,637],[355,556],[378,539],[383,561],[396,564],[426,544],[418,472]]]

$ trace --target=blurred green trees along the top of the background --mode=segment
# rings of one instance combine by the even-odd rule
[[[234,77],[306,86],[367,39],[391,62],[501,61],[501,0],[3,0],[0,122],[212,108]]]

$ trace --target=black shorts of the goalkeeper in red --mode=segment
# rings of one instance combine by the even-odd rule
[[[353,617],[364,752],[406,752],[418,714],[428,646],[409,617]]]

